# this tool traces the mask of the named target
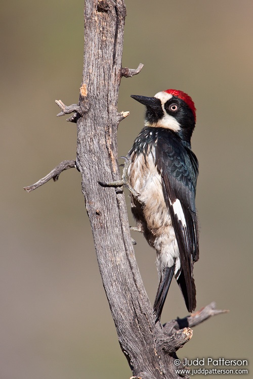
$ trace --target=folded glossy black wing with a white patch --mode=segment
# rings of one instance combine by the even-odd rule
[[[198,161],[174,132],[156,144],[157,170],[162,177],[163,194],[170,210],[180,254],[180,269],[175,273],[189,312],[196,307],[193,262],[198,260],[198,227],[195,209]]]

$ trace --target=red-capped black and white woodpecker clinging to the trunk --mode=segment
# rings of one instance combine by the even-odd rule
[[[167,89],[154,97],[131,96],[146,107],[144,127],[126,156],[135,230],[156,251],[155,322],[175,276],[186,307],[196,307],[193,264],[199,258],[195,208],[198,160],[191,150],[196,108],[191,97]]]

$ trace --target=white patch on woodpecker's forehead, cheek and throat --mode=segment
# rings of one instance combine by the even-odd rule
[[[165,128],[165,129],[171,129],[173,131],[179,131],[181,129],[180,123],[175,119],[175,117],[168,115],[164,109],[164,104],[168,100],[172,99],[173,95],[171,93],[160,91],[155,94],[154,98],[159,99],[161,101],[161,107],[162,107],[164,116],[160,120],[158,120],[156,123],[153,123],[153,124],[146,121],[145,126]]]

